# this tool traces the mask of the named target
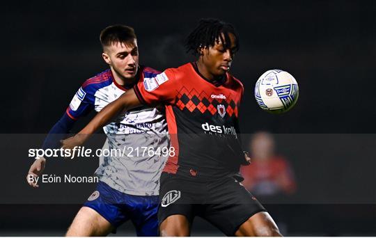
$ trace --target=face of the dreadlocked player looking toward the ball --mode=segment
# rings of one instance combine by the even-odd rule
[[[222,35],[224,38],[224,35]],[[235,35],[228,34],[230,38],[230,49],[226,48],[224,43],[219,40],[215,42],[215,45],[209,48],[203,49],[203,62],[207,71],[214,77],[224,75],[230,70],[231,63],[235,56]]]

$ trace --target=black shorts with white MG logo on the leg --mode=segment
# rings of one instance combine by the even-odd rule
[[[249,191],[233,176],[203,182],[162,173],[159,190],[159,225],[167,217],[181,214],[190,225],[200,216],[227,236],[234,236],[240,225],[253,214],[266,212]]]

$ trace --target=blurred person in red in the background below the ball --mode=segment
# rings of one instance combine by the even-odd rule
[[[287,235],[289,213],[287,204],[297,185],[288,160],[274,152],[274,137],[258,132],[249,141],[251,164],[242,166],[242,184],[272,214],[281,233]],[[286,208],[286,209],[285,209]]]

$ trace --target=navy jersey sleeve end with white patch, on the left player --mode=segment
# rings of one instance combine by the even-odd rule
[[[86,116],[94,109],[95,97],[91,86],[81,86],[75,96],[73,96],[66,113],[73,120],[77,120],[81,116]]]

